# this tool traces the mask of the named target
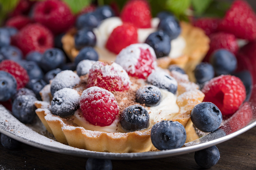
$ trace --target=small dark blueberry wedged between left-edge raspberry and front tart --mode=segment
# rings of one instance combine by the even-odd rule
[[[36,98],[38,100],[41,100],[41,96],[40,96],[39,92],[44,88],[45,85],[46,85],[46,83],[42,79],[31,79],[31,80],[29,80],[26,87],[31,89],[36,94]]]

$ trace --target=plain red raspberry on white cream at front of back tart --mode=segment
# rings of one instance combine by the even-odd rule
[[[123,25],[117,26],[110,34],[106,43],[106,48],[109,51],[118,54],[123,48],[137,42],[137,29],[130,23],[123,23]]]

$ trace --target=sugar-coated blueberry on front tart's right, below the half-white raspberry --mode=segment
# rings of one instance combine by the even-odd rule
[[[155,71],[148,76],[148,82],[160,89],[166,89],[173,94],[176,94],[178,83],[177,81],[164,71]]]

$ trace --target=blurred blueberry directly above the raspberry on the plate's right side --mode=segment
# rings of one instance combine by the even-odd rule
[[[210,61],[217,75],[230,74],[237,67],[236,56],[225,49],[215,51]]]

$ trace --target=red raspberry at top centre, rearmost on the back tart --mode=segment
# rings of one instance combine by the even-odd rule
[[[145,0],[131,0],[127,2],[120,17],[124,22],[130,22],[138,28],[151,27],[151,11],[148,2]]]

